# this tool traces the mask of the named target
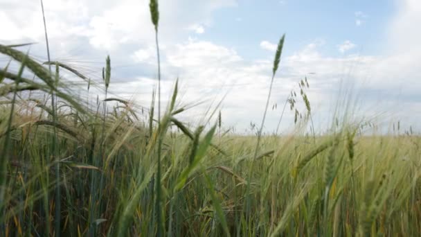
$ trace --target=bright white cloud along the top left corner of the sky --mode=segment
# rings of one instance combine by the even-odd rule
[[[44,0],[48,36],[51,42],[69,36],[85,37],[96,49],[116,51],[122,44],[153,42],[154,32],[147,7],[149,0],[86,1]],[[204,3],[194,0],[160,1],[159,21],[162,39],[179,40],[180,29],[193,22],[203,24],[195,29],[204,33],[204,25],[213,22],[214,10],[235,7],[236,0],[215,0]],[[190,9],[195,9],[191,11]],[[30,40],[43,42],[44,27],[38,1],[1,1],[0,40]],[[19,29],[19,30],[17,30]]]

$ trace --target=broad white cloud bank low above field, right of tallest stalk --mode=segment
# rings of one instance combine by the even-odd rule
[[[304,76],[308,76],[310,81],[308,96],[314,108],[316,126],[326,123],[326,117],[337,105],[341,83],[353,85],[357,89],[356,92],[365,98],[364,107],[359,109],[359,114],[356,116],[379,114],[384,111],[395,115],[405,114],[402,107],[397,106],[397,100],[393,100],[399,96],[399,91],[396,89],[402,88],[403,84],[402,80],[393,80],[402,77],[401,72],[389,67],[390,64],[396,64],[397,68],[402,68],[397,64],[399,62],[397,58],[368,55],[332,58],[320,52],[323,44],[323,41],[316,40],[292,55],[283,56],[274,82],[271,105],[278,103],[278,107],[281,107],[279,105],[285,101],[289,91],[294,87],[297,89],[296,83]],[[235,125],[242,132],[250,121],[258,122],[261,119],[271,67],[272,62],[269,58],[248,61],[226,46],[190,39],[165,50],[163,71],[167,73],[165,78],[171,80],[166,80],[163,91],[169,93],[172,86],[170,82],[178,77],[183,85],[181,87],[183,102],[207,101],[183,115],[183,119],[190,121],[193,117],[200,118],[199,114],[211,106],[211,101],[215,98],[219,100],[227,94],[222,104],[224,123]],[[129,93],[128,91],[133,88],[136,86],[127,88],[125,93]],[[387,100],[382,97],[383,94],[388,94]],[[141,98],[146,104],[149,103],[145,100],[145,96]],[[415,107],[408,101],[405,104],[412,109]],[[279,113],[280,111],[276,109],[269,111],[265,126],[267,131],[276,128]],[[282,125],[283,130],[291,124],[292,114],[287,112]],[[328,126],[328,124],[323,125]]]

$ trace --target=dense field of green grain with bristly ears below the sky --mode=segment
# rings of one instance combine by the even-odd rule
[[[159,54],[157,1],[150,10]],[[160,85],[158,113],[155,91],[148,109],[109,97],[109,56],[100,87],[15,46],[0,53],[19,64],[0,69],[0,236],[421,235],[420,137],[368,136],[362,122],[314,134],[307,78],[304,116],[295,91],[285,102],[294,133],[263,135],[264,115],[240,136],[221,131],[217,110],[211,125],[179,121],[178,81],[163,114]],[[104,89],[102,101],[76,96],[62,71]]]

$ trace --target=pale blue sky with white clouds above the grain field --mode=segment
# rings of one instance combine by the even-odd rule
[[[51,60],[99,83],[110,55],[111,94],[149,107],[157,64],[147,0],[44,0],[44,8]],[[260,125],[285,33],[265,132],[276,129],[305,77],[316,132],[330,126],[335,109],[385,128],[397,121],[421,128],[419,0],[161,0],[159,9],[163,104],[179,78],[179,106],[195,105],[181,117],[192,124],[219,106],[226,128]],[[30,55],[46,60],[39,1],[0,0],[0,22],[0,44],[37,42]],[[301,101],[297,108],[305,112]],[[293,125],[287,109],[281,130]]]

